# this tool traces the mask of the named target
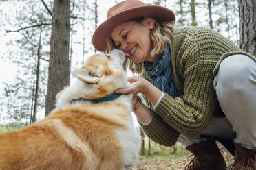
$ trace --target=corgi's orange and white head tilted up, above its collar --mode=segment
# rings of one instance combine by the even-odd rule
[[[74,70],[72,74],[89,88],[83,97],[95,99],[127,86],[126,69],[125,53],[114,49],[109,55],[100,53],[89,57],[85,65]]]

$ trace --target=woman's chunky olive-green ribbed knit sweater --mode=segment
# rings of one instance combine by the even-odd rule
[[[172,78],[182,96],[173,99],[165,93],[155,110],[144,97],[152,116],[149,124],[140,123],[145,134],[166,146],[175,144],[180,134],[189,138],[200,136],[209,125],[217,105],[213,78],[220,62],[236,53],[250,56],[256,62],[255,56],[241,51],[212,29],[175,29],[171,48]],[[142,77],[149,80],[145,71]]]

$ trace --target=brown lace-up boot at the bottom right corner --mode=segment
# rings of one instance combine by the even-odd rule
[[[235,143],[233,170],[256,170],[256,150]]]

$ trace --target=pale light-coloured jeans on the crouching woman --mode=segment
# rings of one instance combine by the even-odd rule
[[[228,56],[220,63],[213,87],[226,117],[213,116],[202,134],[232,139],[235,131],[235,143],[256,149],[256,62],[245,55]],[[202,140],[182,134],[178,138],[186,147]]]

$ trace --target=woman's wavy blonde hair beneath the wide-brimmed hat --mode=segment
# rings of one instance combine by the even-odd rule
[[[144,17],[140,17],[137,19],[131,19],[130,21],[136,21],[138,23],[141,23],[141,21],[144,19]],[[173,32],[174,32],[174,25],[175,21],[171,22],[158,22],[156,19],[153,19],[155,24],[153,29],[150,32],[150,38],[152,42],[153,49],[150,52],[150,56],[154,57],[158,55],[159,53],[162,53],[166,47],[167,44],[170,45],[170,48],[172,47],[173,42]],[[107,49],[105,52],[109,52],[112,49],[116,48],[113,40],[109,34],[107,37]],[[136,64],[132,60],[129,60],[129,69],[132,73],[141,73],[143,69],[143,63]]]

